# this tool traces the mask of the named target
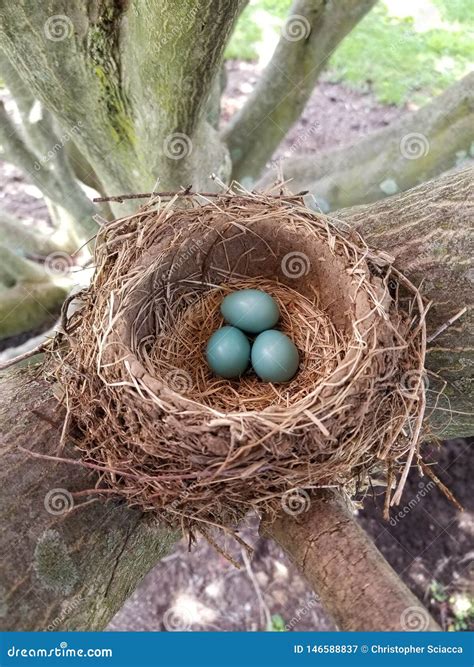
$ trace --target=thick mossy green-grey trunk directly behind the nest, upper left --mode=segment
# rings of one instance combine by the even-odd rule
[[[64,131],[76,128],[108,194],[153,189],[158,177],[162,189],[209,189],[230,161],[207,102],[245,4],[3,2],[0,47]]]

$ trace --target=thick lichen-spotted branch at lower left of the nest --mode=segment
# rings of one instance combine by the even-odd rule
[[[81,506],[88,497],[74,493],[93,476],[18,450],[57,453],[64,412],[51,387],[31,371],[0,387],[0,629],[100,630],[175,537],[115,502]],[[61,498],[73,509],[48,512]]]

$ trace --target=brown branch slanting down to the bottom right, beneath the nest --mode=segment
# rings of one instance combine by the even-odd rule
[[[400,632],[410,616],[420,630],[440,630],[339,494],[320,492],[299,518],[283,513],[260,530],[283,547],[340,630]]]

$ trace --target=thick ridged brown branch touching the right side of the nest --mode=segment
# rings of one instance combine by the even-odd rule
[[[467,312],[428,345],[428,416],[441,439],[474,433],[474,169],[448,174],[374,204],[336,211],[432,302],[428,340],[462,308]],[[443,394],[438,391],[444,386]]]

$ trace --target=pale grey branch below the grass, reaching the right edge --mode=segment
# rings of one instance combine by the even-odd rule
[[[282,160],[285,180],[309,190],[328,209],[369,203],[403,192],[451,169],[469,155],[474,139],[474,73],[450,86],[418,111],[356,144]],[[274,181],[269,172],[259,182]]]

